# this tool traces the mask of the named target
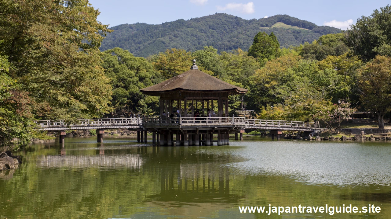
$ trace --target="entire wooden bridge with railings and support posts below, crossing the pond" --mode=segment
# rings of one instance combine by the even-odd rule
[[[143,118],[99,118],[99,119],[80,119],[77,124],[66,124],[64,120],[39,120],[34,121],[38,129],[44,131],[59,131],[60,142],[64,142],[65,131],[75,129],[96,129],[98,142],[103,141],[104,129],[128,129],[137,131],[138,141],[147,142],[147,131],[152,132],[152,142],[155,143],[156,132],[158,132],[157,138],[160,141],[160,137],[165,138],[163,141],[173,142],[173,134],[166,134],[159,136],[160,132],[169,133],[187,133],[189,140],[185,138],[185,141],[192,143],[195,141],[195,145],[199,142],[208,143],[213,142],[213,132],[223,135],[221,139],[224,141],[221,143],[229,144],[228,134],[235,133],[235,139],[237,134],[240,133],[240,139],[242,140],[242,133],[245,129],[263,129],[270,130],[272,139],[274,135],[277,139],[280,138],[282,131],[302,131],[302,132],[314,132],[316,124],[314,122],[300,122],[300,121],[284,121],[284,120],[262,120],[262,119],[247,119],[245,117],[176,117],[176,118],[161,118],[159,116],[143,117]],[[207,136],[211,136],[210,139],[205,140],[205,134],[201,136],[202,140],[198,140],[198,134],[188,134],[188,132],[207,133]],[[144,134],[145,133],[145,134]],[[220,134],[224,133],[224,134]],[[181,135],[177,135],[178,143],[181,140]],[[195,139],[190,139],[194,138]],[[167,137],[169,136],[169,137]],[[179,136],[179,137],[178,137]],[[182,135],[183,136],[183,135]],[[187,137],[187,136],[186,136]],[[168,138],[168,140],[167,140]]]

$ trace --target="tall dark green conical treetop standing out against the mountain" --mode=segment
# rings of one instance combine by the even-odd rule
[[[270,35],[259,32],[255,35],[253,44],[248,49],[248,55],[257,58],[261,65],[264,65],[267,60],[278,57],[279,51],[280,44],[273,32]]]

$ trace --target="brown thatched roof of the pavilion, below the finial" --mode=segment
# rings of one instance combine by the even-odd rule
[[[187,92],[230,92],[245,94],[248,90],[231,85],[198,69],[192,69],[151,87],[140,89],[148,95],[160,95],[174,91]]]

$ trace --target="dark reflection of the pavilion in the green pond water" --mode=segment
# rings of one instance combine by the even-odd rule
[[[159,163],[160,192],[148,196],[154,201],[237,203],[240,198],[230,193],[230,168],[224,166],[239,161],[229,155],[203,154],[188,147],[141,147],[145,158],[143,171],[149,162]],[[154,165],[152,165],[154,166]]]

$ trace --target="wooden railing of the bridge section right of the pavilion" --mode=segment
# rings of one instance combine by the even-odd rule
[[[246,125],[251,125],[251,126],[276,126],[276,127],[316,128],[315,122],[300,122],[300,121],[285,121],[285,120],[263,120],[263,119],[246,119]]]

